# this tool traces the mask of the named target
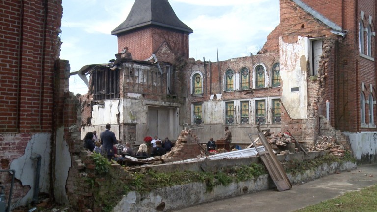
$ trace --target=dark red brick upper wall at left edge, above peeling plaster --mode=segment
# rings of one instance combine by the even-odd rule
[[[23,2],[0,2],[0,132],[51,132],[61,0],[49,1],[45,29],[42,1]]]

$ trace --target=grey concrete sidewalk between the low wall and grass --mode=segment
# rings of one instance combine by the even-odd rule
[[[357,166],[291,190],[267,190],[179,210],[180,212],[287,212],[332,199],[346,192],[377,184],[377,164]]]

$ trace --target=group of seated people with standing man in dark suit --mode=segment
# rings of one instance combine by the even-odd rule
[[[131,144],[126,142],[123,145],[122,140],[117,140],[115,133],[110,131],[111,125],[105,125],[105,131],[101,132],[101,142],[98,139],[97,132],[88,132],[84,137],[84,148],[91,152],[100,153],[106,156],[108,159],[123,160],[126,155],[136,158],[147,158],[148,147],[146,144],[141,144],[136,153],[131,148]],[[173,147],[173,143],[168,137],[162,142],[157,136],[152,140],[152,152],[151,155],[164,155],[169,152]]]

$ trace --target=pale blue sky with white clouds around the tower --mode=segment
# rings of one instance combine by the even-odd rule
[[[84,65],[107,63],[118,53],[111,31],[126,18],[135,0],[63,0],[60,59],[71,72]],[[169,0],[178,18],[193,29],[190,57],[217,61],[256,54],[279,24],[279,0]],[[71,76],[69,90],[85,94],[87,86]]]

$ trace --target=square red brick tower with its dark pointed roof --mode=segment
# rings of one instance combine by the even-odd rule
[[[167,0],[135,0],[127,19],[111,34],[118,37],[118,52],[128,47],[134,60],[156,54],[162,61],[188,58],[188,36],[193,30],[184,24]]]

